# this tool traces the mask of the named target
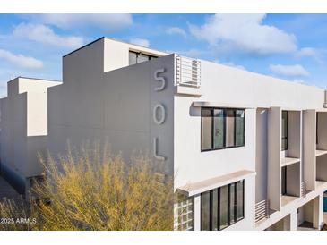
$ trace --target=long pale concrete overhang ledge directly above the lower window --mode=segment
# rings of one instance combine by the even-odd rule
[[[202,182],[189,183],[185,186],[179,187],[177,190],[185,193],[186,196],[191,197],[196,194],[227,185],[228,183],[238,182],[245,179],[245,177],[249,177],[255,174],[256,173],[254,171],[241,170],[234,173],[220,175]]]

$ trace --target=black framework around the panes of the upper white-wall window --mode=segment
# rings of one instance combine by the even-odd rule
[[[203,139],[203,122],[202,122],[202,117],[203,117],[203,111],[204,110],[210,110],[211,111],[211,115],[209,117],[211,117],[211,148],[202,148],[202,139]],[[214,130],[215,130],[215,124],[214,124],[214,120],[215,118],[217,118],[218,116],[215,116],[214,112],[215,111],[223,111],[223,116],[222,116],[222,120],[223,120],[223,144],[222,147],[220,148],[215,148],[215,134],[214,134]],[[233,117],[234,117],[234,145],[233,146],[227,146],[227,112],[233,111]],[[243,118],[243,143],[237,145],[237,111],[241,111],[243,112],[244,116],[240,117]],[[208,116],[207,116],[208,117]],[[202,152],[205,151],[211,151],[211,150],[219,150],[219,149],[226,149],[226,148],[242,148],[245,147],[245,109],[244,108],[221,108],[221,107],[201,107],[201,140],[200,140],[200,148]]]

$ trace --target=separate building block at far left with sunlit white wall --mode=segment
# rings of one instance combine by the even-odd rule
[[[17,78],[1,105],[1,170],[20,192],[26,178],[42,172],[37,153],[47,148],[47,88],[60,82]]]

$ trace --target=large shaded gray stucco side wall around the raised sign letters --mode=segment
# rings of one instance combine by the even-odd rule
[[[152,156],[158,137],[158,154],[167,156],[172,172],[174,55],[103,72],[104,45],[100,40],[64,58],[64,83],[48,90],[50,153],[65,153],[67,141],[76,148],[97,141],[129,161],[134,151]],[[161,68],[166,86],[155,91],[154,72]],[[160,125],[152,120],[158,103],[166,108]]]

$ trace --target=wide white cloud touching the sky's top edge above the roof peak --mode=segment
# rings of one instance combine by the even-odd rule
[[[133,24],[131,14],[37,14],[28,15],[30,21],[41,24],[54,25],[61,29],[97,28],[102,30],[118,30]]]

